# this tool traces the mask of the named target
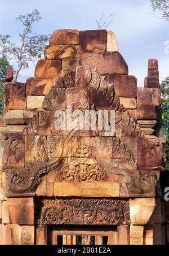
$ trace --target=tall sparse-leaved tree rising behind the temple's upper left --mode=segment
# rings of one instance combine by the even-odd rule
[[[43,49],[48,41],[48,36],[45,34],[36,34],[33,32],[33,23],[41,20],[39,11],[34,9],[30,14],[20,15],[16,18],[23,24],[23,32],[19,34],[21,43],[17,45],[11,41],[11,37],[7,34],[0,34],[0,57],[7,56],[9,60],[12,57],[16,60],[17,68],[15,72],[15,80],[22,68],[28,68],[30,62],[34,62],[37,58],[41,58]]]

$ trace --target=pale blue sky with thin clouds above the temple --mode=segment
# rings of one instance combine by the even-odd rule
[[[152,14],[149,0],[0,0],[0,33],[10,34],[19,42],[22,26],[15,18],[34,8],[42,16],[34,25],[34,31],[46,34],[60,28],[96,29],[95,20],[103,11],[105,18],[114,12],[108,30],[115,32],[119,51],[128,64],[130,75],[137,77],[138,86],[144,85],[150,58],[158,59],[161,80],[169,76],[169,54],[164,53],[164,40],[169,40],[169,23]],[[21,71],[19,81],[33,76],[34,67],[35,63]]]

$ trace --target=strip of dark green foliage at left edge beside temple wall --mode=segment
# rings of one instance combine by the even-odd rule
[[[0,58],[0,115],[3,114],[3,84],[5,82],[5,71],[7,67],[11,66],[7,57],[4,55]]]

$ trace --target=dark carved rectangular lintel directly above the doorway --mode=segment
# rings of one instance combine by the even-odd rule
[[[113,199],[44,199],[38,224],[130,224],[129,202]]]

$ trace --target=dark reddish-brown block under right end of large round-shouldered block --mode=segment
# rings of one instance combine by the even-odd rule
[[[114,85],[115,94],[119,97],[137,97],[137,79],[135,76],[126,75],[114,75],[111,79],[111,75],[106,75],[105,79]]]

